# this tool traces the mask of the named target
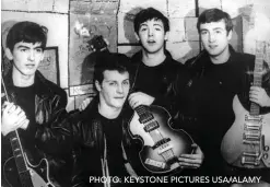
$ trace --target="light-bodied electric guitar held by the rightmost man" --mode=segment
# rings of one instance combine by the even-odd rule
[[[256,43],[254,85],[261,86],[263,43]],[[270,167],[270,114],[260,115],[260,106],[251,103],[246,110],[237,95],[233,100],[236,116],[222,140],[221,153],[234,166],[246,168]]]

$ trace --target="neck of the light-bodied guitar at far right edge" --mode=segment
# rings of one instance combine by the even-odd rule
[[[262,69],[263,69],[263,42],[257,40],[253,85],[261,87]],[[253,102],[250,105],[250,115],[258,116],[259,114],[260,114],[260,106]]]

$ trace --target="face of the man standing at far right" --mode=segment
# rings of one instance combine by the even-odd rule
[[[204,23],[200,25],[200,36],[203,48],[212,57],[221,56],[228,47],[232,31],[227,34],[225,22]]]

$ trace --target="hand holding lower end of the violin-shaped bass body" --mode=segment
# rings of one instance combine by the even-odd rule
[[[180,157],[178,157],[179,164],[183,167],[198,168],[201,166],[204,155],[199,145],[193,143],[191,147],[195,149],[195,153],[181,154]]]

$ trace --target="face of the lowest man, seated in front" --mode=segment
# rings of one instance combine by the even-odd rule
[[[111,108],[121,108],[130,89],[129,73],[105,70],[103,75],[102,84],[98,81],[95,82],[101,103]]]

